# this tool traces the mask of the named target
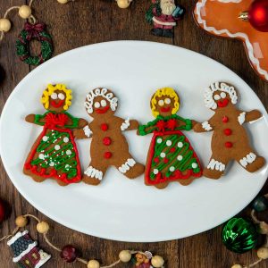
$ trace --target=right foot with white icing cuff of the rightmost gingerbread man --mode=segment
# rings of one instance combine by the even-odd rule
[[[244,151],[242,155],[238,155],[236,160],[247,172],[256,172],[264,166],[265,160],[263,156],[255,155],[250,149],[246,152],[247,154]]]

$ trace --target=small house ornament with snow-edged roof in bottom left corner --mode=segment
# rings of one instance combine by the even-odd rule
[[[13,250],[13,263],[20,268],[38,268],[50,259],[42,249],[38,248],[38,242],[29,237],[28,230],[17,232],[7,245]]]

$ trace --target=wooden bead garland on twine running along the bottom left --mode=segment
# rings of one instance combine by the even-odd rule
[[[144,259],[147,260],[147,262],[151,262],[152,267],[163,268],[163,264],[164,264],[163,257],[160,255],[153,256],[149,251],[142,252],[142,251],[122,250],[119,254],[119,260],[107,266],[101,266],[99,262],[94,259],[89,260],[89,261],[82,259],[78,257],[77,249],[75,247],[72,247],[71,245],[64,246],[62,249],[54,246],[54,244],[52,244],[50,240],[47,238],[49,224],[47,222],[40,221],[38,217],[31,215],[31,214],[18,216],[15,220],[17,227],[13,230],[12,234],[4,236],[4,238],[0,239],[0,241],[3,241],[4,239],[11,239],[18,232],[18,230],[20,230],[21,228],[24,228],[27,225],[27,223],[29,222],[28,221],[29,218],[32,218],[38,222],[36,226],[38,233],[43,234],[43,237],[46,240],[46,243],[50,247],[54,248],[54,250],[58,251],[61,257],[68,263],[77,261],[82,264],[86,264],[87,268],[112,268],[120,263],[129,263],[133,255],[142,255],[144,256]],[[262,252],[260,252],[260,255],[262,255],[263,257],[266,257],[266,251],[263,250]]]

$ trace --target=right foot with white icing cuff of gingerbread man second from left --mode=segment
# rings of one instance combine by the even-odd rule
[[[144,165],[136,163],[131,155],[121,161],[121,165],[116,165],[116,168],[129,179],[135,179],[144,172]]]

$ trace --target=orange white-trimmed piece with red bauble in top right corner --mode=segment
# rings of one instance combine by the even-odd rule
[[[267,0],[198,0],[195,19],[214,36],[242,40],[249,63],[268,80]]]

